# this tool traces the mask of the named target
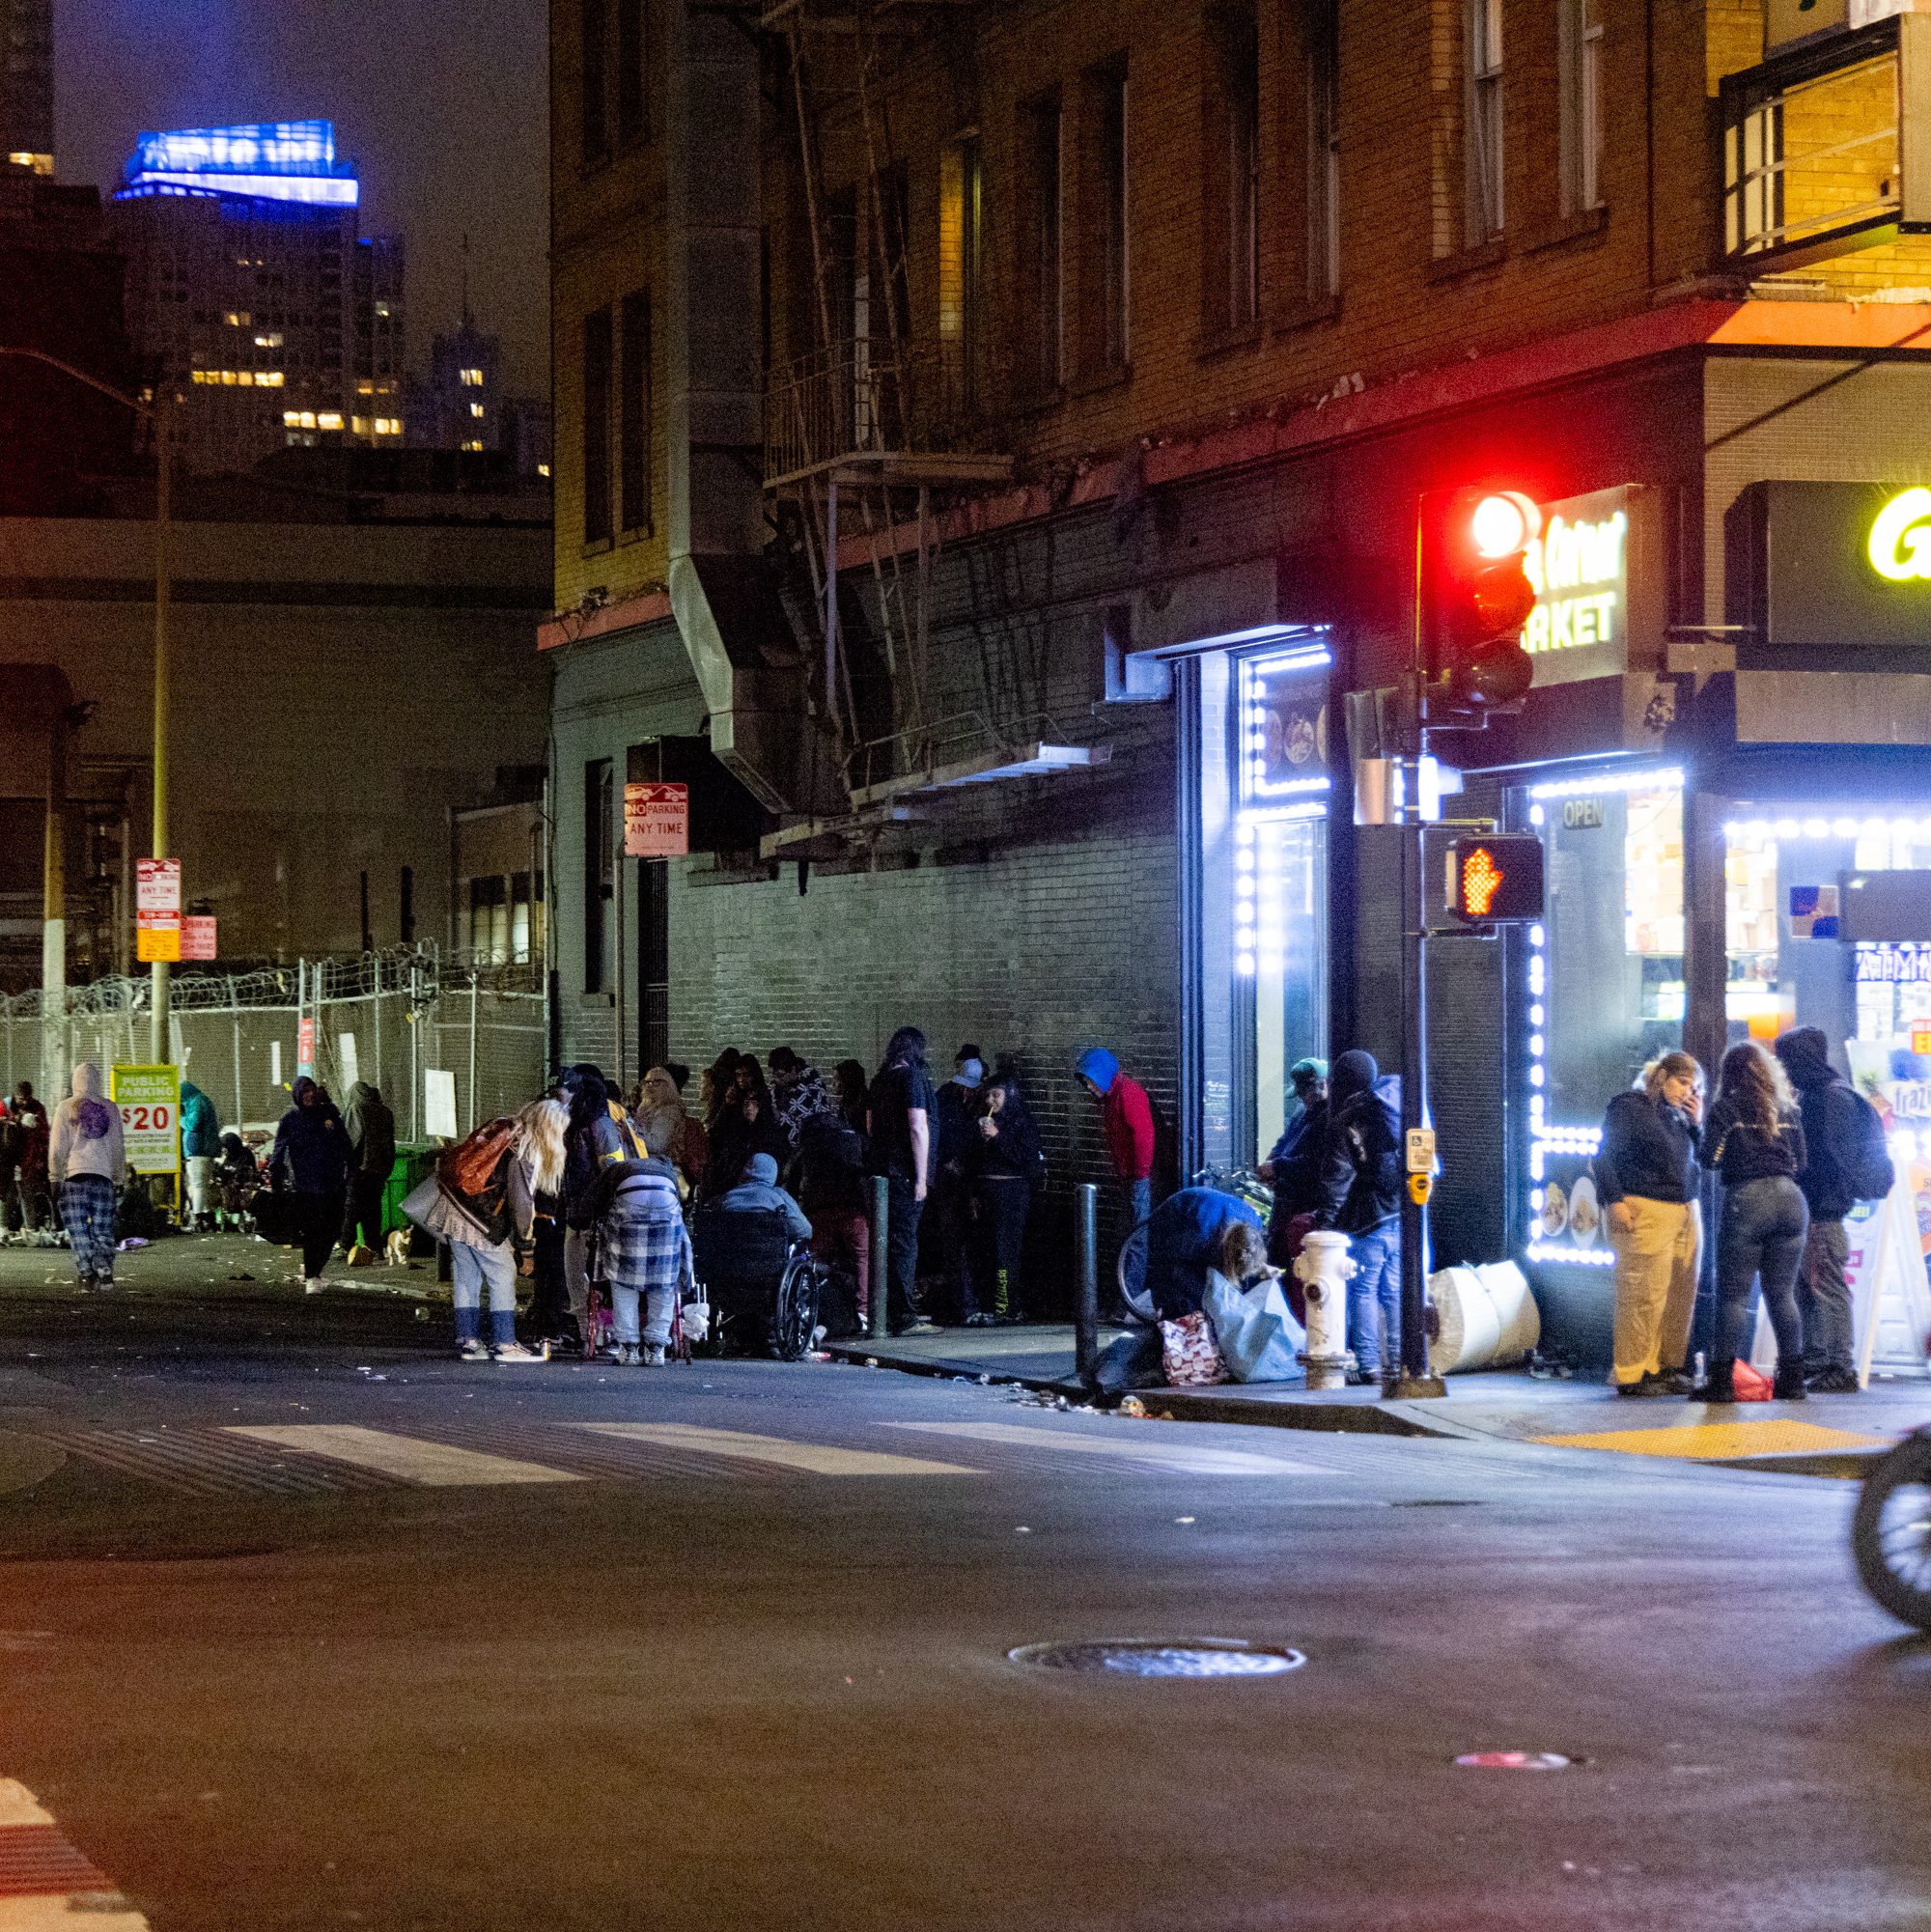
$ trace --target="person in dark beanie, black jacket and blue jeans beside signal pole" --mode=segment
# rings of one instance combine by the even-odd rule
[[[1363,1383],[1402,1370],[1402,1130],[1379,1088],[1373,1053],[1334,1063],[1315,1202],[1315,1225],[1350,1240],[1348,1341]]]

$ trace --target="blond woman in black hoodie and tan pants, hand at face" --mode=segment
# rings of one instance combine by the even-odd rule
[[[1703,1254],[1697,1138],[1703,1068],[1665,1053],[1603,1115],[1595,1192],[1616,1256],[1618,1395],[1688,1395],[1684,1362]]]

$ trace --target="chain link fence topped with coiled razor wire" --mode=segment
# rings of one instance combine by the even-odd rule
[[[39,991],[0,997],[0,1088],[31,1080],[58,1097],[79,1061],[102,1070],[147,1065],[151,1001],[149,980],[95,980],[68,989],[50,1028]],[[261,1128],[282,1117],[309,1032],[315,1076],[338,1105],[367,1080],[394,1109],[398,1136],[427,1140],[433,1072],[454,1084],[460,1134],[543,1092],[548,1022],[541,968],[475,966],[409,947],[247,974],[176,974],[168,1032],[182,1078],[209,1095],[222,1126]]]

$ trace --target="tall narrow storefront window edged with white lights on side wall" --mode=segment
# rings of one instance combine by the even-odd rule
[[[1327,1055],[1329,651],[1201,667],[1205,1146],[1251,1167],[1278,1138],[1288,1068]]]

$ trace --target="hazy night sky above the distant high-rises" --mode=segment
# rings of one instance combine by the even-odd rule
[[[409,249],[409,361],[462,307],[548,394],[546,0],[56,0],[56,160],[120,184],[147,128],[332,120],[363,234]]]

